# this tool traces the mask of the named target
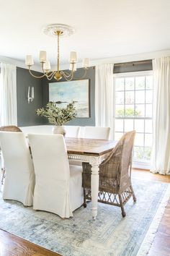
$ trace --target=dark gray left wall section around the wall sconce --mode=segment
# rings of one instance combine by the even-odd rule
[[[40,75],[39,72],[35,74]],[[35,99],[32,103],[27,101],[28,87],[35,89]],[[35,114],[37,108],[42,107],[42,79],[30,75],[27,69],[17,67],[17,119],[18,126],[43,124],[43,119]]]

